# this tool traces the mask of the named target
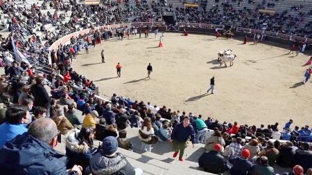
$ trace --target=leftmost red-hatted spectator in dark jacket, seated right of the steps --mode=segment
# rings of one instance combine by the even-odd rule
[[[222,145],[215,144],[214,150],[206,151],[200,158],[198,159],[198,165],[202,167],[205,172],[210,172],[214,174],[223,173],[229,170],[229,165],[227,165],[227,161],[220,154],[222,151]]]

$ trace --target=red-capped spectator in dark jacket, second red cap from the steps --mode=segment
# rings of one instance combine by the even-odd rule
[[[241,157],[237,157],[231,160],[232,167],[229,170],[229,173],[231,175],[246,175],[253,165],[250,160],[248,160],[249,156],[249,150],[243,149],[241,151]]]

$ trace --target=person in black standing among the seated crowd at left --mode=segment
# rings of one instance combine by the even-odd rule
[[[49,94],[46,92],[46,89],[43,85],[44,77],[36,77],[36,84],[31,86],[31,93],[35,98],[34,106],[35,107],[45,107],[46,108],[46,117],[50,117],[50,100]]]

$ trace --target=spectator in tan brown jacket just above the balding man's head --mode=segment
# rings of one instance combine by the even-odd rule
[[[73,129],[73,125],[71,125],[71,122],[65,118],[63,109],[58,108],[58,104],[56,106],[55,116],[51,114],[52,120],[55,122],[56,127],[58,127],[58,131],[65,135],[69,130]]]

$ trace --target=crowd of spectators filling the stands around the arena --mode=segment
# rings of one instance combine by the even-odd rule
[[[25,8],[24,3],[0,3],[1,9],[9,17],[11,32],[8,37],[1,37],[1,66],[4,66],[6,72],[6,76],[0,78],[0,131],[4,133],[0,139],[0,167],[3,172],[142,174],[141,169],[132,167],[125,156],[116,152],[117,147],[133,150],[134,145],[127,138],[125,129],[139,128],[141,149],[151,151],[152,145],[157,142],[180,139],[177,130],[180,128],[180,131],[183,126],[189,129],[190,139],[187,144],[205,144],[206,152],[200,156],[198,163],[207,172],[266,175],[274,174],[272,166],[277,164],[293,168],[291,173],[296,175],[312,173],[312,150],[308,143],[312,142],[312,134],[309,126],[292,129],[293,120],[290,120],[279,131],[281,127],[278,123],[257,128],[255,125],[218,122],[211,118],[203,120],[201,115],[187,115],[184,111],[171,111],[166,106],[159,108],[150,102],[132,101],[116,94],[108,102],[96,97],[96,86],[92,80],[71,68],[73,59],[83,48],[88,51],[89,44],[95,47],[101,40],[115,37],[115,33],[116,37],[121,36],[122,39],[123,36],[141,35],[143,32],[137,31],[135,27],[96,30],[94,26],[128,22],[131,17],[134,17],[133,21],[161,21],[164,12],[174,11],[177,21],[208,24],[239,22],[241,26],[264,26],[268,30],[287,33],[284,28],[272,27],[279,23],[282,26],[282,22],[289,19],[287,12],[267,18],[252,10],[235,10],[228,2],[220,4],[223,14],[218,9],[219,4],[208,11],[180,7],[173,10],[173,4],[167,1],[153,1],[151,7],[147,1],[136,1],[135,6],[124,1],[122,7],[116,1],[101,1],[103,6],[85,6],[74,0],[69,3],[53,0],[44,1],[41,6],[33,4],[30,9]],[[50,12],[45,15],[40,11],[49,8],[48,5],[55,9],[53,15]],[[71,12],[69,21],[63,22],[68,11]],[[263,23],[257,26],[255,21],[249,19],[250,16],[263,19],[266,25]],[[291,17],[288,25],[300,20]],[[52,24],[58,32],[46,30],[46,24]],[[36,35],[34,29],[37,26],[44,34],[43,38]],[[57,50],[49,53],[49,46],[53,42],[80,28],[92,28],[92,31],[88,35],[71,37],[70,44],[61,44]],[[147,26],[144,33],[148,33],[148,30]],[[19,62],[14,59],[14,54],[10,52],[14,48],[11,39],[32,65],[25,60]],[[53,66],[49,68],[51,72],[35,73],[36,65],[48,64],[49,57]],[[51,96],[46,86],[51,88]],[[76,116],[76,109],[83,111],[83,121]],[[183,122],[186,119],[189,122]],[[65,137],[66,158],[53,149],[61,137]],[[94,139],[103,141],[102,145],[96,147]],[[30,149],[25,150],[23,147]],[[179,150],[179,160],[183,161],[181,151],[184,149]],[[34,156],[33,160],[30,161],[28,156]]]

